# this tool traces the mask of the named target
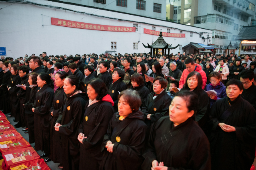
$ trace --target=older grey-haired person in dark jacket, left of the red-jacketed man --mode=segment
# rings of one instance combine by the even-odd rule
[[[177,68],[177,65],[174,61],[170,62],[170,69],[171,70],[169,71],[168,75],[170,75],[171,78],[166,77],[166,75],[164,75],[164,78],[167,79],[167,81],[168,81],[167,89],[169,89],[171,81],[177,81],[179,83],[180,82],[180,77],[182,75],[182,71],[180,71]]]

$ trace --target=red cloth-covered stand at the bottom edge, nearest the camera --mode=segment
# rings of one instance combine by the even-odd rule
[[[22,164],[17,164],[15,166],[19,166]],[[27,166],[26,170],[51,170],[49,166],[44,162],[44,159],[38,159],[38,160],[33,160],[30,162],[25,162],[23,165]],[[10,168],[13,168],[15,166],[10,166]],[[37,169],[36,169],[37,168]]]

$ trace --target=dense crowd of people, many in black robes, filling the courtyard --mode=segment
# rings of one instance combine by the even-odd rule
[[[232,53],[2,56],[0,110],[63,170],[249,170],[255,65]]]

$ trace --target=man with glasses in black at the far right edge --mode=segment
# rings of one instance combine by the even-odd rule
[[[243,84],[241,97],[252,104],[256,109],[256,86],[254,85],[254,73],[251,70],[243,70],[240,73],[240,81]]]

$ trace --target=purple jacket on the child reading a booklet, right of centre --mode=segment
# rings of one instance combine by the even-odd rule
[[[217,100],[227,96],[227,94],[226,94],[226,87],[224,86],[224,84],[222,82],[220,82],[220,85],[216,85],[215,88],[212,86],[212,83],[210,83],[210,84],[205,86],[204,90],[205,91],[215,90],[218,93],[217,94],[218,95],[217,96]],[[212,104],[214,102],[216,102],[217,100],[210,99],[211,107],[212,107]]]

